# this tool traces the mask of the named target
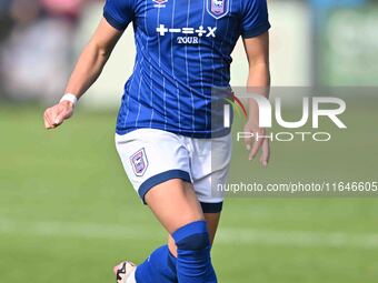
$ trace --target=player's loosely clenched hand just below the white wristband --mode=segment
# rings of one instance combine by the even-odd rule
[[[61,125],[64,120],[72,117],[73,107],[72,102],[62,101],[57,105],[47,109],[43,114],[44,128],[50,130]]]

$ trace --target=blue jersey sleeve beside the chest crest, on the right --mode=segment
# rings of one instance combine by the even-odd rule
[[[258,37],[270,29],[267,0],[243,0],[241,36]]]

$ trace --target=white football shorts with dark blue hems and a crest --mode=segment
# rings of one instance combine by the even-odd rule
[[[172,179],[191,182],[205,213],[222,209],[223,195],[212,184],[226,183],[231,160],[231,135],[193,139],[156,129],[116,134],[125,171],[145,202],[153,186]],[[146,203],[146,202],[145,202]]]

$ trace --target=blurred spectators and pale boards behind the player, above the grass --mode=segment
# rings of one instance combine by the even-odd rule
[[[268,2],[272,85],[378,84],[378,1]],[[56,101],[102,6],[101,0],[0,0],[0,98]],[[129,27],[83,103],[118,105],[133,59]],[[243,85],[247,62],[241,42],[233,59],[232,84]]]

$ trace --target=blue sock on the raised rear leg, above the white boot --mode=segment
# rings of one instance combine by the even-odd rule
[[[136,271],[137,283],[177,283],[177,259],[167,245],[155,250]]]

